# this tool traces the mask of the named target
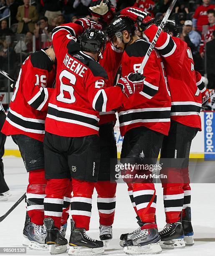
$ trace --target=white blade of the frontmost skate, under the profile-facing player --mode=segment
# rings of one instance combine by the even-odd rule
[[[159,254],[162,252],[162,248],[159,243],[151,243],[145,246],[126,246],[124,247],[124,253],[126,254]]]

